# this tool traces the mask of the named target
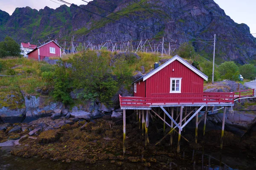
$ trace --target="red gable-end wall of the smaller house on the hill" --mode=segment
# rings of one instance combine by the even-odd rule
[[[50,53],[50,47],[55,48],[55,54]],[[45,57],[60,57],[61,56],[61,51],[60,47],[56,45],[54,42],[50,42],[49,44],[46,44],[40,49],[40,56],[45,56]]]

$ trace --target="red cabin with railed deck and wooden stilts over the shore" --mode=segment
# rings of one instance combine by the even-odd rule
[[[226,110],[227,107],[234,105],[236,92],[204,92],[204,80],[208,80],[208,77],[205,74],[176,55],[163,65],[154,68],[153,71],[134,81],[134,97],[119,95],[120,107],[123,109],[124,152],[126,110],[135,110],[139,115],[139,124],[145,134],[145,144],[149,142],[149,119],[153,119],[157,116],[163,120],[164,131],[166,125],[171,127],[171,131],[169,131],[163,139],[167,135],[171,135],[170,143],[172,144],[172,133],[173,131],[176,131],[178,133],[177,152],[179,153],[180,138],[183,137],[181,136],[181,131],[184,127],[195,118],[195,142],[197,143],[198,124],[204,120],[203,133],[205,134],[207,113],[210,110],[213,111],[213,108],[217,106],[224,107],[221,134],[222,148]],[[249,93],[253,92],[254,90]],[[159,110],[157,108],[160,108],[164,112],[163,116],[160,116],[160,114],[157,113]],[[175,116],[176,120],[174,118],[174,108],[179,111],[177,116]],[[202,111],[204,112],[204,115],[199,119],[198,113]],[[166,122],[166,116],[171,119],[170,124]],[[142,125],[140,119],[142,119]],[[163,139],[157,142],[157,144]],[[183,139],[185,138],[183,137]]]

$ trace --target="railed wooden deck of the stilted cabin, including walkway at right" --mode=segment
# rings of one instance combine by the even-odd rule
[[[154,107],[176,106],[233,106],[234,100],[254,96],[254,89],[230,93],[180,93],[180,94],[151,94],[151,97],[122,97],[119,95],[121,109],[144,109]]]

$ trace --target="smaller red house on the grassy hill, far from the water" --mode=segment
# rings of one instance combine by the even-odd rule
[[[43,60],[45,57],[61,57],[61,46],[50,41],[28,53],[29,59]]]

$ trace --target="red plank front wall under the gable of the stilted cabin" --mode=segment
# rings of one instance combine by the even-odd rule
[[[170,93],[171,77],[182,78],[181,93],[203,93],[204,91],[204,79],[175,60],[146,80],[146,97],[150,97],[151,93]]]

